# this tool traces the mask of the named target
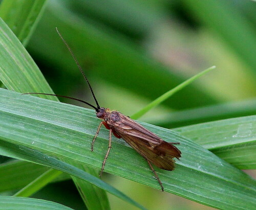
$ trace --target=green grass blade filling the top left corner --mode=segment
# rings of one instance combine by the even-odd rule
[[[24,46],[44,11],[45,3],[46,0],[4,0],[0,5],[0,17]]]

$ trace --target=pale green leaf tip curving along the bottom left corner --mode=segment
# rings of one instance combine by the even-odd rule
[[[52,201],[40,200],[35,198],[19,198],[10,196],[0,196],[0,209],[12,209],[12,210],[23,210],[23,209],[42,209],[42,210],[52,210],[52,209],[69,209],[65,205],[59,203],[54,203]]]

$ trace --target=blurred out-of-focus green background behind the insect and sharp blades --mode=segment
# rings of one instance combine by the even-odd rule
[[[50,0],[26,48],[55,94],[94,104],[57,27],[99,104],[126,115],[216,65],[140,119],[175,128],[256,113],[255,11],[255,2],[244,0]],[[121,177],[104,174],[103,180],[148,209],[210,209]],[[35,197],[55,191],[55,200],[66,204],[74,189],[71,181],[51,184]],[[77,197],[72,207],[83,209]],[[134,208],[114,196],[109,199],[113,209]]]

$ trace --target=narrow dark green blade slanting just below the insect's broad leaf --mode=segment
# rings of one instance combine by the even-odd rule
[[[54,157],[44,155],[36,150],[29,149],[23,146],[14,145],[5,141],[0,141],[0,154],[21,160],[31,161],[34,162],[35,164],[40,164],[43,166],[54,168],[59,171],[68,173],[70,175],[79,177],[80,179],[93,183],[99,188],[104,189],[105,191],[117,196],[120,199],[123,199],[126,202],[129,202],[137,206],[140,209],[145,209],[143,206],[136,203],[134,200],[125,196],[123,193],[116,190],[111,185],[103,182],[102,180],[94,177],[93,175],[86,173],[72,165],[69,165],[66,162],[62,162]]]

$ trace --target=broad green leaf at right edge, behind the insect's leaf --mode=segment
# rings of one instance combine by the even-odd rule
[[[174,130],[239,169],[256,169],[256,115]]]

